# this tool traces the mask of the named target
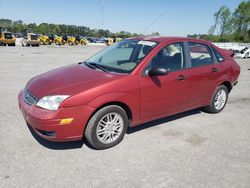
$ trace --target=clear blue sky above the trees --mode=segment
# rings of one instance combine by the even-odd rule
[[[103,0],[103,28],[165,36],[206,34],[222,5],[243,0]],[[102,28],[102,0],[0,0],[0,18]]]

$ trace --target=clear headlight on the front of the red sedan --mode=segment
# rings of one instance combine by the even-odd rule
[[[45,96],[36,103],[36,106],[47,110],[57,110],[60,104],[68,97],[69,95]]]

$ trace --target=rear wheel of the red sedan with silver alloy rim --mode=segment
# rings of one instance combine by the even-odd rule
[[[212,114],[221,112],[227,104],[228,93],[225,85],[219,86],[211,99],[210,105],[206,106],[204,110]]]

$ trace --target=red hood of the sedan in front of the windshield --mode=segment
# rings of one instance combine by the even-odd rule
[[[31,79],[26,88],[37,98],[49,95],[75,95],[125,76],[91,69],[85,65],[69,65]]]

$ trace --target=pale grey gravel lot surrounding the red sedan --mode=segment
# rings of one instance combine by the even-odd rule
[[[249,187],[250,59],[220,114],[192,110],[130,129],[116,147],[32,136],[17,94],[45,71],[102,47],[0,48],[0,187]]]

